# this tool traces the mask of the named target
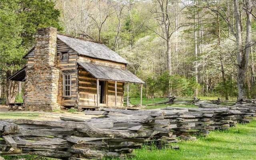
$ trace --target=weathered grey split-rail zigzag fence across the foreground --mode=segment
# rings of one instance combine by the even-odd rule
[[[228,129],[255,117],[256,103],[162,110],[100,108],[88,120],[60,117],[59,121],[0,120],[1,155],[38,155],[68,160],[132,156],[134,148],[154,142],[159,148],[178,140],[196,140],[210,130]]]

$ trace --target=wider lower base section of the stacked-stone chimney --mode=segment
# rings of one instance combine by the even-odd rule
[[[50,111],[58,108],[58,78],[59,70],[44,68],[38,70],[31,68],[26,72],[26,110]]]

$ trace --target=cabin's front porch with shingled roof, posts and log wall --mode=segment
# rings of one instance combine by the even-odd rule
[[[144,82],[122,68],[113,68],[97,64],[78,62],[78,108],[118,108],[140,109],[142,106],[142,86]],[[124,106],[124,84],[126,84],[129,101],[129,83],[140,85],[140,104],[130,107],[129,103]]]

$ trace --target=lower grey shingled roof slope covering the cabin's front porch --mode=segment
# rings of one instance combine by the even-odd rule
[[[140,78],[132,74],[129,70],[101,66],[92,63],[77,62],[85,70],[90,72],[92,76],[102,80],[114,80],[120,82],[144,83]]]

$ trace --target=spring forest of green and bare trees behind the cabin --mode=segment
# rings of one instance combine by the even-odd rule
[[[22,101],[24,84],[7,78],[36,29],[53,26],[128,60],[146,98],[256,99],[255,10],[253,0],[1,0],[0,96]]]

